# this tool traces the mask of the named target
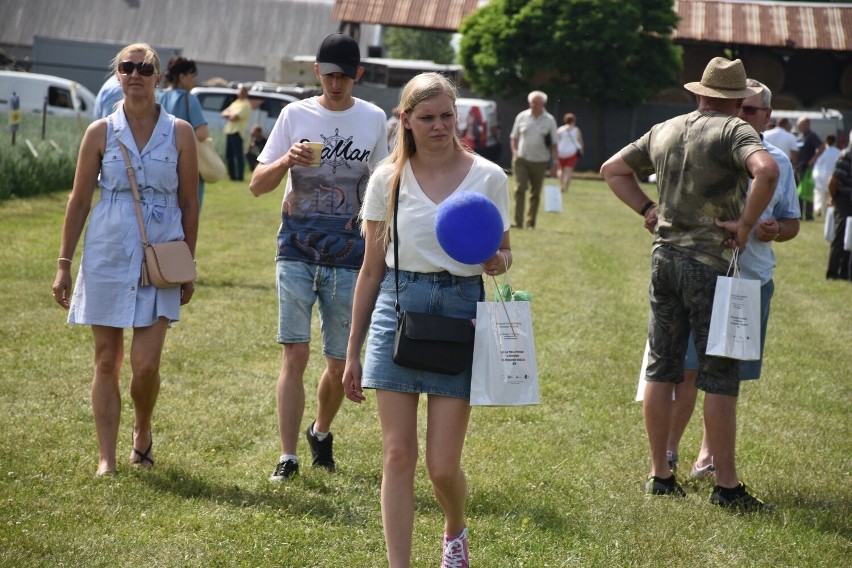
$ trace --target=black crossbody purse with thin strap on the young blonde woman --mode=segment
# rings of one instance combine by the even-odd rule
[[[396,335],[393,362],[403,367],[458,375],[473,360],[474,327],[469,319],[402,311],[399,307],[399,182],[393,209],[393,269],[396,278]]]

